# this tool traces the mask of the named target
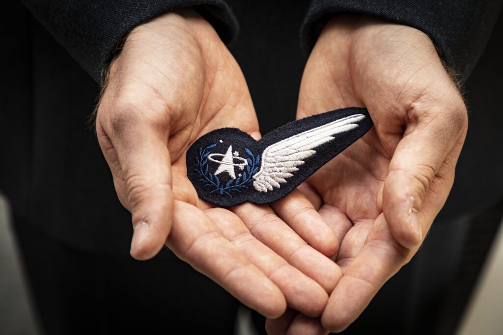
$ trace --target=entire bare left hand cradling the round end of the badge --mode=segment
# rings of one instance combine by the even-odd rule
[[[311,202],[296,191],[288,206],[273,206],[278,214],[254,204],[212,208],[188,180],[187,149],[222,127],[260,138],[241,70],[211,25],[186,10],[134,29],[96,118],[117,195],[132,213],[131,255],[146,260],[165,244],[267,317],[287,305],[319,316],[342,272],[328,258],[336,234]]]

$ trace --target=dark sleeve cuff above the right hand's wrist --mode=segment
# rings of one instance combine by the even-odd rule
[[[368,14],[423,31],[440,57],[464,81],[475,66],[496,23],[501,0],[313,0],[301,38],[310,50],[326,20],[338,13]]]

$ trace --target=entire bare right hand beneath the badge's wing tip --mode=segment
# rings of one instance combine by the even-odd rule
[[[338,237],[344,276],[321,318],[288,310],[267,320],[270,334],[348,327],[416,253],[451,190],[467,112],[428,36],[332,18],[306,64],[297,117],[346,106],[367,107],[375,127],[300,187]]]

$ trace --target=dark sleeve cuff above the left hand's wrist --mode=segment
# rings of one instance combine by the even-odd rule
[[[22,0],[54,38],[96,80],[116,47],[136,26],[163,13],[194,7],[224,42],[237,30],[222,0]]]

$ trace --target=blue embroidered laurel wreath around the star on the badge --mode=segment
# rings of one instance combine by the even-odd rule
[[[229,192],[241,192],[240,189],[248,188],[246,185],[254,180],[252,176],[259,171],[260,155],[257,155],[256,157],[249,149],[244,148],[246,155],[248,155],[246,158],[246,162],[248,164],[246,164],[245,171],[242,172],[240,177],[237,177],[236,179],[231,178],[225,185],[223,185],[218,176],[208,172],[208,156],[211,154],[211,151],[209,150],[216,147],[216,145],[216,143],[210,144],[204,148],[204,150],[202,147],[199,147],[198,156],[196,156],[197,165],[194,170],[201,177],[198,180],[205,182],[204,186],[212,188],[210,193],[218,191],[220,194],[232,197]]]

